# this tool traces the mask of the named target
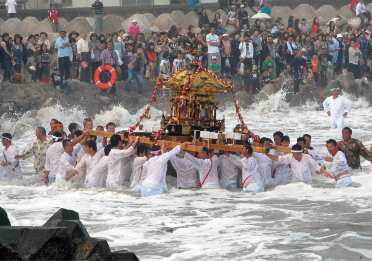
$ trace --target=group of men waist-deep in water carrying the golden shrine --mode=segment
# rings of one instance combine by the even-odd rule
[[[161,146],[140,144],[134,136],[122,140],[115,133],[114,122],[96,127],[99,131],[106,128],[113,134],[110,138],[90,135],[88,130],[93,129],[90,118],[84,119],[82,130],[77,123],[70,123],[68,136],[62,122],[52,119],[50,126],[48,134],[45,128],[36,128],[36,140],[21,153],[10,133],[1,135],[4,146],[1,182],[21,179],[19,160],[32,156],[36,175],[42,177],[45,185],[73,182],[78,174],[85,177],[85,188],[127,186],[142,196],[167,191],[168,161],[177,173],[179,189],[242,188],[248,192],[264,191],[267,186],[288,182],[312,182],[314,172],[335,179],[336,187],[349,187],[352,185],[350,171],[361,170],[360,156],[372,164],[372,147],[368,150],[362,142],[353,139],[349,127],[342,129],[342,140],[326,142],[327,153],[318,153],[311,147],[309,134],[298,137],[292,146],[289,137],[281,131],[273,133],[273,140],[260,139],[259,146],[269,149],[269,153],[253,152],[249,144],[241,147],[239,153],[209,148],[195,153],[183,150],[192,145],[191,142],[171,148],[170,141],[164,140]],[[241,133],[242,126],[238,124],[234,132]],[[176,137],[172,141],[176,142]],[[232,145],[225,143],[229,144]],[[280,152],[280,146],[291,147],[291,153]],[[324,161],[330,163],[331,169],[326,168]]]

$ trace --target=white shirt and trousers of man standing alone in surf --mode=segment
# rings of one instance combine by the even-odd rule
[[[331,128],[343,128],[344,120],[343,114],[345,112],[350,113],[353,108],[353,102],[343,96],[337,96],[333,99],[333,96],[328,97],[323,102],[324,111],[330,111],[331,116],[329,117]]]

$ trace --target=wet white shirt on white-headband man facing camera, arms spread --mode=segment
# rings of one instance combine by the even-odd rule
[[[316,171],[320,172],[320,166],[315,162],[312,156],[302,154],[300,161],[296,160],[292,154],[279,156],[279,163],[291,164],[292,181],[312,182],[310,170],[313,167]]]

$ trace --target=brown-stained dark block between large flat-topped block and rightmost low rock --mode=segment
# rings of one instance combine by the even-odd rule
[[[105,239],[83,238],[74,252],[73,260],[103,260],[110,253],[110,246]]]

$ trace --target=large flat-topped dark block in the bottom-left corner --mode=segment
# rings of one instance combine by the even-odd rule
[[[0,227],[0,239],[22,260],[71,260],[71,236],[66,227]]]

